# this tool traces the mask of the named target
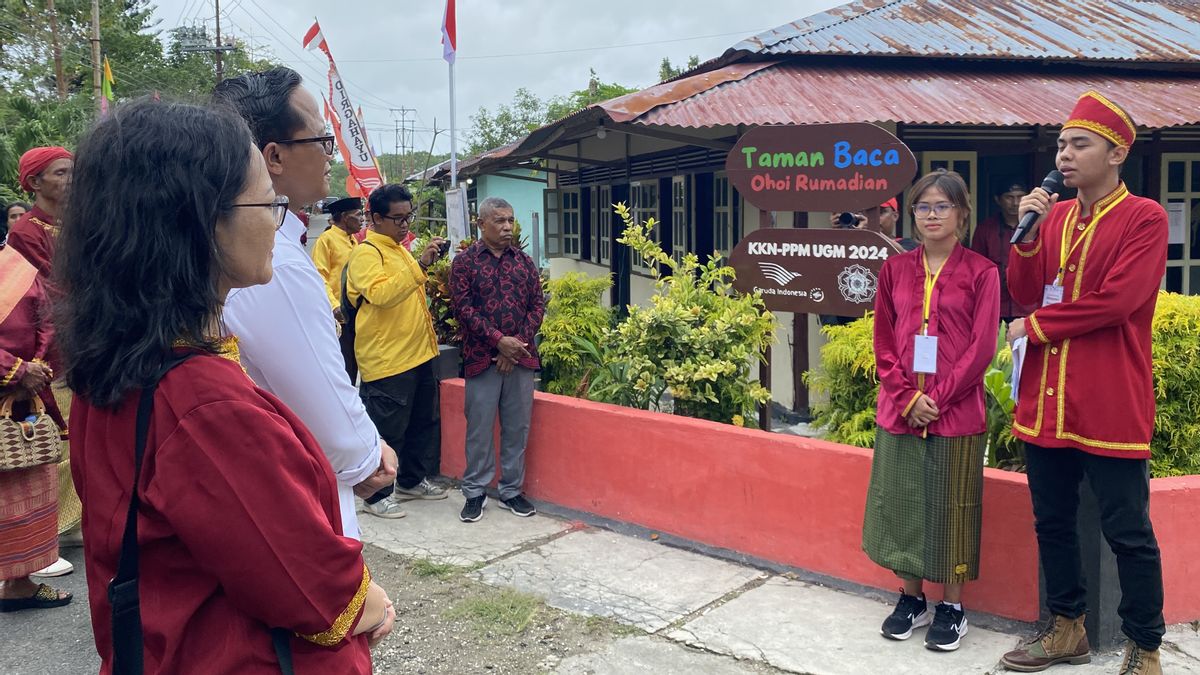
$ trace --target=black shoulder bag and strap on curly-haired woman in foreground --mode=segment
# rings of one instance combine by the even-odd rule
[[[170,369],[196,354],[174,356],[158,371],[158,377],[142,389],[138,400],[137,431],[133,449],[133,489],[130,510],[125,516],[125,534],[121,537],[121,555],[116,563],[116,577],[108,583],[108,602],[112,604],[113,622],[113,675],[142,675],[144,647],[142,644],[142,601],[138,597],[138,477],[142,476],[142,456],[145,454],[146,436],[150,432],[150,416],[154,412],[154,393],[158,381]],[[271,643],[280,659],[283,675],[293,675],[290,632],[271,628]]]

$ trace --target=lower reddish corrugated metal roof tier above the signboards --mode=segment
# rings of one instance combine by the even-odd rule
[[[677,127],[842,121],[1056,125],[1088,89],[1104,92],[1140,126],[1200,124],[1200,78],[1195,76],[787,61],[688,98],[664,100],[634,123]]]

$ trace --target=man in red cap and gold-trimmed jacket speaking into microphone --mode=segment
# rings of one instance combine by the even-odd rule
[[[1075,199],[1040,187],[1020,213],[1038,214],[1009,255],[1013,300],[1039,309],[1009,327],[1028,338],[1013,434],[1025,441],[1030,495],[1045,571],[1050,625],[1001,659],[1010,670],[1086,663],[1086,590],[1075,534],[1079,484],[1099,502],[1117,560],[1122,674],[1162,673],[1163,571],[1150,521],[1154,429],[1151,321],[1166,268],[1166,211],[1121,181],[1136,127],[1096,91],[1058,135],[1056,163]]]

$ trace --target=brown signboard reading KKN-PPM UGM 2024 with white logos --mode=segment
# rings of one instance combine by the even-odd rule
[[[781,312],[863,316],[875,306],[880,269],[902,252],[894,240],[865,229],[757,229],[730,256],[733,287],[762,293]]]

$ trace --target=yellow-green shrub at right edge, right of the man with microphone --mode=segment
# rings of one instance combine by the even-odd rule
[[[1200,297],[1158,294],[1154,312],[1154,476],[1200,474]]]

